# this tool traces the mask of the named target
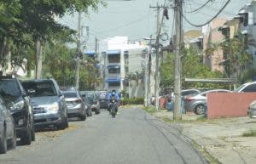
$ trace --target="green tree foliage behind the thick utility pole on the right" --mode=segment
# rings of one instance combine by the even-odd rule
[[[221,78],[224,74],[219,71],[211,71],[201,62],[201,55],[198,55],[193,48],[184,49],[182,58],[182,88],[225,88],[224,85],[184,82],[184,78]],[[160,85],[162,88],[174,86],[174,54],[166,54],[166,59],[160,68]]]

